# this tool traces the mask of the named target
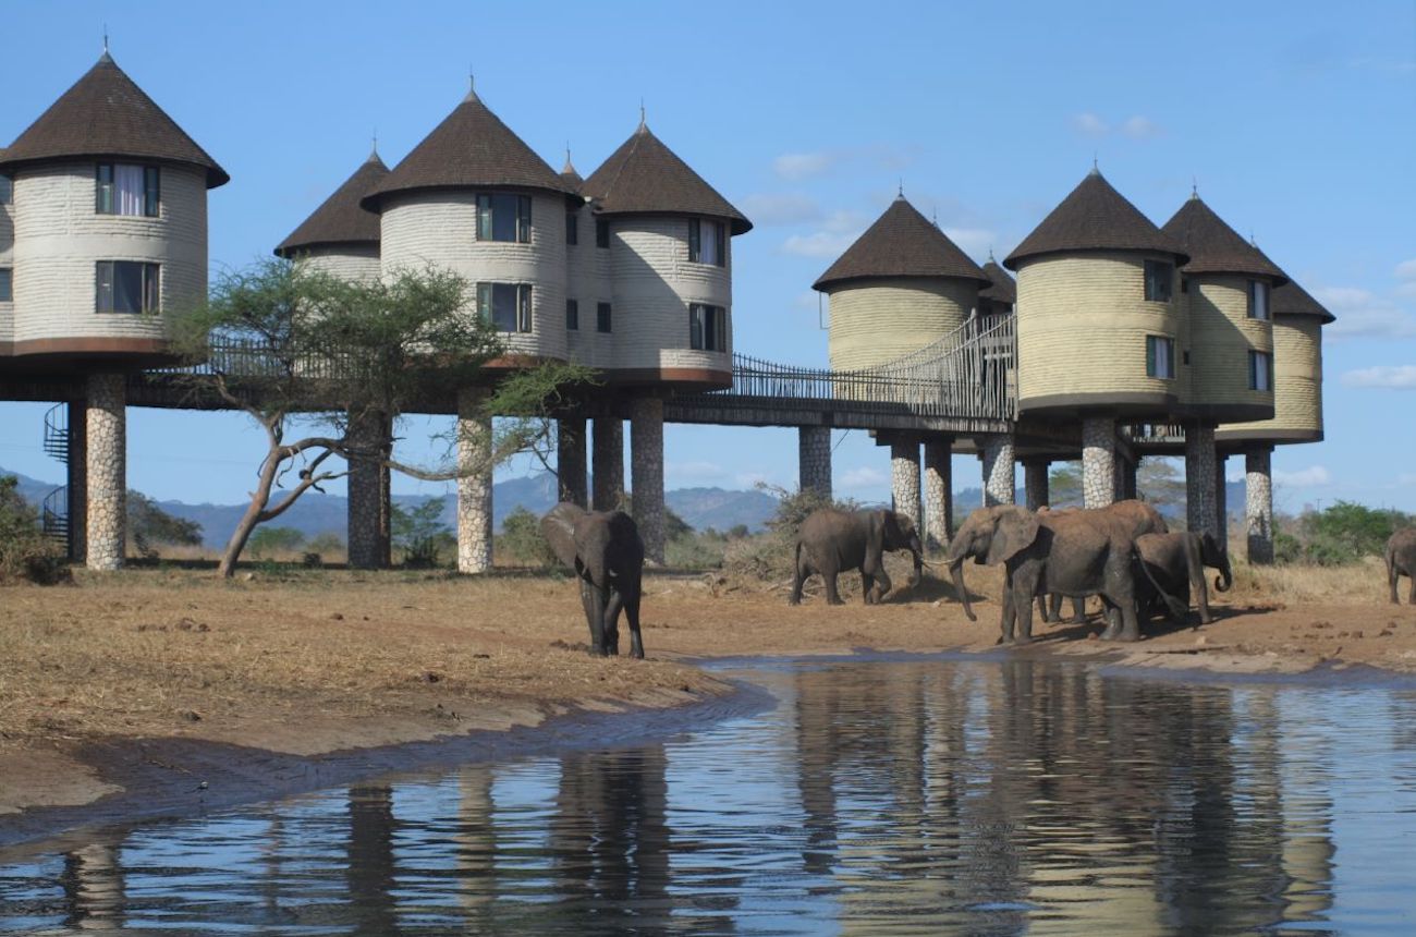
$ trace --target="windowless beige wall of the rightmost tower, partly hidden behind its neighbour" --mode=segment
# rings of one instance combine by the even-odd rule
[[[1317,316],[1273,317],[1273,386],[1272,420],[1225,423],[1215,439],[1323,439],[1323,321]]]

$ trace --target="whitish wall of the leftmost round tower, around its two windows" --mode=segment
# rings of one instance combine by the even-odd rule
[[[14,180],[14,341],[169,335],[207,297],[207,176],[161,167],[157,218],[101,215],[92,160]],[[161,316],[96,313],[96,262],[160,263]]]

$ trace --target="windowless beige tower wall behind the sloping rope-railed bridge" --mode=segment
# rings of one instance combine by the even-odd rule
[[[978,284],[936,277],[852,280],[830,293],[828,354],[837,371],[886,364],[963,326]]]

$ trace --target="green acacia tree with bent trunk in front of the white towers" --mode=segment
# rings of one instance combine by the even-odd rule
[[[447,481],[548,446],[548,412],[562,388],[592,379],[588,368],[542,364],[497,384],[473,423],[490,425],[493,415],[511,419],[491,439],[466,447],[481,453],[480,461],[456,461],[459,440],[450,437],[440,464],[401,463],[385,440],[362,430],[484,381],[483,365],[504,345],[489,323],[466,313],[466,297],[462,277],[435,269],[360,283],[265,260],[224,276],[205,307],[178,324],[177,350],[207,362],[184,379],[246,412],[266,435],[251,504],[218,575],[235,572],[259,524],[280,517],[310,488],[323,491],[326,481],[347,476],[351,461]]]

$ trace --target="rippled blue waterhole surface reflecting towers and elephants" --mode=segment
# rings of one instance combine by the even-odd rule
[[[1416,933],[1416,694],[743,671],[773,712],[0,853],[0,931]]]

